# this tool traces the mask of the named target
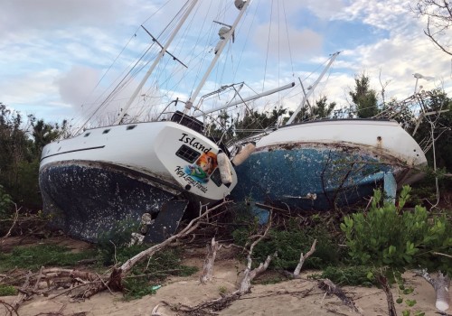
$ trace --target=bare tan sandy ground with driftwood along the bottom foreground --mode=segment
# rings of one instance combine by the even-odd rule
[[[192,253],[190,253],[190,251]],[[184,264],[196,265],[202,271],[203,249],[188,251]],[[72,315],[84,312],[85,315],[151,315],[158,304],[161,315],[176,315],[175,311],[165,305],[185,304],[194,306],[220,297],[225,289],[231,293],[240,283],[243,265],[233,259],[225,249],[221,249],[214,267],[212,282],[201,284],[199,274],[190,277],[174,277],[168,279],[155,295],[148,295],[142,299],[125,302],[121,293],[99,293],[84,302],[71,302],[66,295],[56,298],[34,297],[24,302],[18,314],[21,316],[49,314],[60,312],[60,315]],[[326,295],[317,286],[317,282],[308,279],[312,272],[305,272],[301,279],[276,284],[256,284],[251,293],[232,302],[231,306],[219,311],[219,315],[357,315],[344,305],[336,296]],[[405,297],[416,300],[414,311],[424,311],[425,315],[438,315],[435,308],[435,292],[422,278],[414,274],[405,274],[407,284],[415,288],[414,293]],[[353,299],[363,315],[388,315],[386,296],[378,288],[363,288],[344,286],[344,292]],[[397,289],[392,289],[394,299],[399,297]],[[5,302],[14,302],[15,297],[1,298]],[[397,304],[398,313],[409,309],[405,303]],[[449,310],[450,312],[450,310]],[[0,315],[7,314],[0,306]]]

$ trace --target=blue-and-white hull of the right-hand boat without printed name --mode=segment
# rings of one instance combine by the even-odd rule
[[[256,152],[236,167],[234,200],[334,209],[372,195],[385,174],[399,187],[422,177],[424,154],[394,122],[332,120],[287,127],[262,137]]]

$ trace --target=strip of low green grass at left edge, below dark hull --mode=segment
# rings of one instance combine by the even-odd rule
[[[81,259],[92,258],[94,252],[87,250],[71,252],[70,248],[58,245],[36,245],[14,247],[11,253],[0,254],[0,271],[14,268],[38,270],[41,266],[77,265]]]

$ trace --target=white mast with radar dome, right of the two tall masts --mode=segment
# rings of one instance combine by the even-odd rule
[[[231,25],[231,28],[228,33],[223,34],[223,37],[221,37],[220,46],[218,47],[218,50],[215,51],[215,57],[211,61],[211,65],[207,69],[207,71],[204,73],[204,77],[202,77],[201,82],[199,83],[196,90],[194,90],[192,96],[190,99],[185,103],[184,108],[184,114],[187,114],[190,109],[193,107],[194,100],[198,97],[198,94],[201,91],[201,88],[204,86],[205,81],[209,77],[209,75],[212,72],[213,66],[215,66],[215,63],[220,58],[221,52],[223,51],[224,47],[226,46],[226,43],[231,39],[231,36],[233,35],[235,28],[237,27],[237,24],[240,22],[241,16],[245,13],[248,5],[250,5],[250,0],[244,1],[244,0],[235,0],[236,7],[240,10],[240,14],[235,19],[234,23]]]

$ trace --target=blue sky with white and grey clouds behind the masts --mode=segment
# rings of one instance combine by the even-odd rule
[[[155,37],[164,34],[162,41],[167,40],[164,27],[185,0],[1,3],[0,102],[23,115],[61,122],[90,117],[96,108],[94,101],[106,96],[97,91],[110,87],[111,83],[104,81],[115,82],[151,42],[140,25]],[[450,96],[452,60],[423,33],[425,21],[411,12],[414,5],[415,1],[400,0],[252,0],[234,43],[225,48],[227,57],[219,61],[201,95],[241,81],[255,92],[292,81],[297,85],[301,81],[306,88],[329,56],[341,51],[313,98],[326,96],[338,107],[347,107],[354,78],[362,73],[369,76],[378,93],[384,87],[386,99],[409,97],[415,88],[414,73],[434,77],[419,79],[418,87],[444,88]],[[229,9],[226,14],[213,14],[218,7]],[[233,0],[202,1],[193,11],[201,18],[187,20],[183,37],[169,46],[192,72],[166,56],[157,68],[165,66],[168,73],[165,79],[161,77],[158,83],[151,80],[149,87],[140,91],[143,102],[163,95],[188,99],[208,64],[206,60],[215,56],[212,47],[217,40],[212,39],[217,35],[200,31],[201,26],[218,30],[221,25],[212,20],[232,23],[231,17],[237,14]],[[210,41],[210,49],[202,48],[203,40]],[[176,48],[176,42],[183,48]],[[158,50],[154,56],[156,53]],[[195,61],[195,57],[203,60]],[[228,71],[231,76],[225,75]],[[182,79],[183,74],[190,75]],[[98,113],[99,120],[115,116],[118,108],[125,106],[124,100],[140,76],[118,95],[120,101]],[[299,92],[278,94],[278,98],[289,94],[282,104],[293,109],[301,99]],[[221,98],[221,102],[226,101]]]

